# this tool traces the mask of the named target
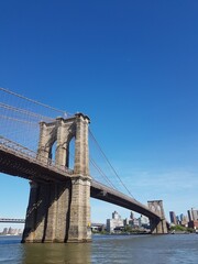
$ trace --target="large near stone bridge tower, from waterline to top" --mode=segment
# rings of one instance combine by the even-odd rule
[[[68,169],[69,143],[75,139],[70,177],[58,183],[33,183],[22,242],[87,242],[90,232],[90,175],[88,124],[82,113],[40,124],[37,158],[47,164],[55,148],[55,164]]]

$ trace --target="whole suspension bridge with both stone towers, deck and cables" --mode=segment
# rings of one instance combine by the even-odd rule
[[[167,233],[163,201],[145,206],[134,199],[90,131],[87,114],[70,114],[4,88],[0,99],[0,173],[30,180],[22,242],[91,241],[90,197],[144,215],[152,233]],[[90,141],[117,180],[91,158]]]

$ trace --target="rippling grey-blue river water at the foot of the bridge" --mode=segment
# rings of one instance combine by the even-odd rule
[[[91,243],[21,244],[0,237],[0,264],[197,264],[197,234],[94,235]]]

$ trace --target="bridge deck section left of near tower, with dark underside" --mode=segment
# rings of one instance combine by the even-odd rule
[[[50,158],[44,163],[36,153],[0,136],[0,172],[37,182],[63,182],[73,172],[55,165]]]

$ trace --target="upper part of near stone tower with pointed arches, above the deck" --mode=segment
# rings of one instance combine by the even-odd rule
[[[53,144],[56,142],[55,163],[68,168],[69,144],[75,139],[74,173],[89,175],[89,118],[82,113],[77,113],[69,119],[57,118],[52,123],[41,122],[37,157],[43,162],[48,162]]]

